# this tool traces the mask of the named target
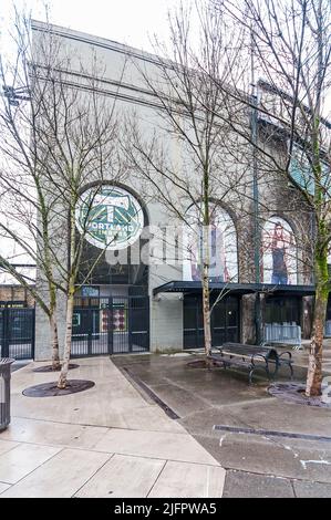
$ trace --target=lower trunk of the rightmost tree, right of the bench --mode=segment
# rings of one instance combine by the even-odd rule
[[[316,301],[306,386],[306,395],[308,397],[318,396],[322,393],[323,337],[329,297],[328,258],[325,251],[316,253],[314,272]]]

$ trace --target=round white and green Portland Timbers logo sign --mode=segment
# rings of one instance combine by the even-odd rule
[[[75,220],[87,242],[107,250],[132,246],[144,227],[139,202],[115,186],[86,189],[77,205]]]

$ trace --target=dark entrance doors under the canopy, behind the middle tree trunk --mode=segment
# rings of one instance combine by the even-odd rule
[[[210,299],[210,305],[215,298]],[[227,297],[213,309],[211,345],[219,346],[225,342],[239,341],[239,299]],[[204,319],[200,297],[184,298],[184,349],[204,346]]]

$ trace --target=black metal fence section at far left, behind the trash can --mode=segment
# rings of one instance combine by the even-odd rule
[[[0,357],[33,360],[34,309],[0,309]]]

